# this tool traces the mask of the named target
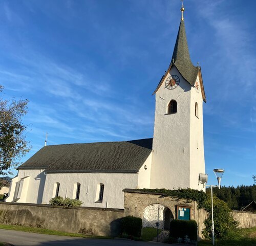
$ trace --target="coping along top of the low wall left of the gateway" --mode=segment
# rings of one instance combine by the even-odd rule
[[[123,213],[123,209],[112,209],[112,208],[62,207],[62,206],[53,206],[53,205],[48,205],[48,204],[7,203],[7,202],[0,202],[0,204],[3,204],[3,205],[14,205],[14,206],[32,206],[32,207],[58,208],[58,209],[99,210],[99,211],[111,211],[111,212]]]

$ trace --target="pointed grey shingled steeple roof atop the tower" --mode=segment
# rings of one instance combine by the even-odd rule
[[[194,66],[190,60],[184,20],[181,19],[177,35],[171,65],[175,65],[183,78],[191,85],[197,79],[199,68]]]

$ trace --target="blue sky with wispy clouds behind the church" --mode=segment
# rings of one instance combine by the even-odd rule
[[[209,183],[256,175],[256,2],[187,0],[191,60],[202,68]],[[0,84],[29,99],[23,161],[48,145],[151,138],[154,92],[173,54],[179,0],[0,2]],[[16,172],[14,172],[15,174]]]

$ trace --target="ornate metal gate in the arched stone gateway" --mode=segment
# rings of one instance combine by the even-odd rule
[[[157,236],[155,240],[157,242],[163,242],[164,239],[169,236],[169,228],[166,228],[166,225],[169,224],[169,221],[167,221],[167,223],[165,221],[165,214],[167,210],[169,209],[161,204],[154,204],[146,207],[143,213],[142,227],[156,228]],[[170,218],[167,219],[170,220]]]

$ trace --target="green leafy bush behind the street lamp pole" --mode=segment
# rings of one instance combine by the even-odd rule
[[[235,230],[239,222],[234,220],[231,209],[227,203],[214,196],[214,231],[216,238],[222,238],[229,231]],[[206,239],[211,238],[211,197],[208,195],[205,202],[205,210],[208,212],[208,218],[204,220],[205,229],[202,233]]]

